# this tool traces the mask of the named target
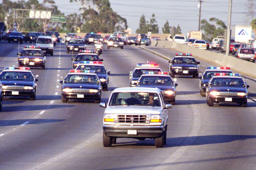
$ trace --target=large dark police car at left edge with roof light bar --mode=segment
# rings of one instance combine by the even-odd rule
[[[29,97],[36,99],[38,75],[34,76],[28,67],[5,67],[0,74],[4,97]]]

